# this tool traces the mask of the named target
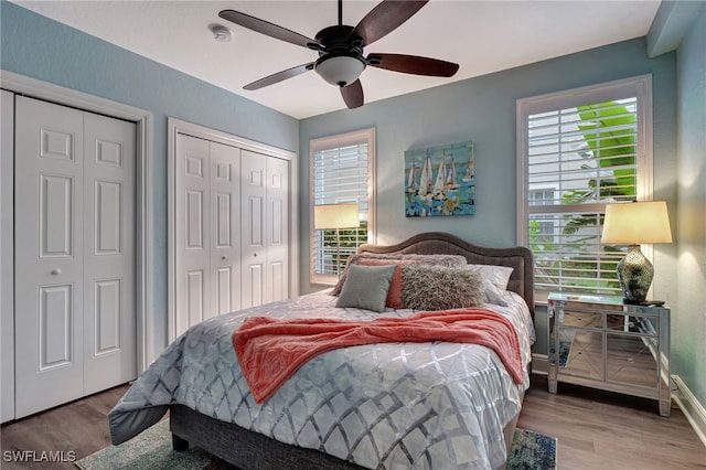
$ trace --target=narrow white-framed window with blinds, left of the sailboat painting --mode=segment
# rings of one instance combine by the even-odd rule
[[[375,234],[375,129],[311,140],[310,281],[335,284],[347,257]],[[359,204],[356,228],[315,229],[313,205]],[[340,239],[340,244],[339,244]]]

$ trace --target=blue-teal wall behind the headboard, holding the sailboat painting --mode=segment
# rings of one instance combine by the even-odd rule
[[[676,54],[646,55],[637,39],[578,54],[470,78],[429,90],[366,104],[300,121],[300,188],[309,188],[308,142],[312,138],[375,127],[377,129],[377,243],[411,234],[445,231],[490,246],[516,244],[517,98],[559,92],[643,74],[652,74],[654,109],[655,199],[674,204]],[[361,81],[365,86],[365,73]],[[475,142],[475,215],[406,218],[404,152],[407,149],[472,140]],[[659,180],[659,181],[656,181]],[[309,194],[300,194],[307,207]],[[301,211],[300,239],[308,239],[309,214]],[[655,269],[663,281],[655,296],[668,299],[675,248],[661,247]],[[302,291],[308,281],[309,247],[302,246]]]

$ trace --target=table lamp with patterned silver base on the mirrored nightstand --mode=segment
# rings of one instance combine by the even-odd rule
[[[629,245],[618,263],[618,281],[623,302],[645,301],[654,268],[640,250],[640,244],[672,243],[670,216],[664,201],[608,204],[603,221],[603,244]]]

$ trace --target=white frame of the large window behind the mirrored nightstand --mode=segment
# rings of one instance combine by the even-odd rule
[[[579,88],[573,88],[545,95],[526,97],[516,102],[516,141],[517,141],[517,244],[530,247],[530,128],[528,118],[532,115],[557,111],[587,104],[606,103],[637,97],[638,128],[637,145],[637,188],[638,201],[653,199],[653,143],[652,143],[652,76],[641,75],[624,79],[606,82]],[[605,213],[607,203],[598,202],[582,204],[581,211]],[[549,206],[545,206],[549,207]],[[555,210],[547,212],[566,213],[567,206],[556,204]],[[578,213],[578,211],[576,211]],[[643,253],[648,258],[653,257],[652,245],[643,245]],[[554,289],[554,290],[559,290]],[[535,299],[546,300],[552,289],[535,288]],[[566,290],[569,291],[569,290]]]

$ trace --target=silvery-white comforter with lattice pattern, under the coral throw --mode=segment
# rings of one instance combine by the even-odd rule
[[[525,364],[534,327],[522,298],[485,305],[517,330]],[[378,318],[334,307],[328,291],[206,320],[170,344],[110,412],[114,444],[157,423],[170,404],[376,469],[489,469],[505,461],[503,427],[518,413],[517,386],[490,349],[459,343],[345,348],[304,364],[265,403],[255,403],[231,334],[247,316]],[[406,317],[411,310],[383,316]],[[526,368],[526,367],[525,367]]]

